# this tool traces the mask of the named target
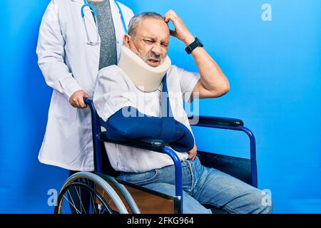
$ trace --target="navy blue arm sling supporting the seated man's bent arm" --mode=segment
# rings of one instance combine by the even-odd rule
[[[183,123],[173,118],[168,96],[167,76],[163,78],[161,100],[161,118],[140,113],[131,106],[125,107],[131,116],[125,117],[121,108],[101,125],[106,128],[106,136],[110,140],[126,141],[138,138],[155,138],[168,143],[173,150],[187,152],[194,147],[194,138]],[[166,105],[166,103],[168,105]]]

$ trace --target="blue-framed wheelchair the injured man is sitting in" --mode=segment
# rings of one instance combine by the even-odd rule
[[[182,214],[183,183],[178,155],[170,148],[165,147],[165,143],[158,139],[140,138],[121,142],[108,140],[106,131],[101,130],[93,100],[89,98],[84,100],[91,110],[94,171],[77,172],[68,177],[58,195],[54,213]],[[193,118],[193,116],[190,116],[189,120]],[[210,116],[199,116],[198,120],[198,123],[194,126],[236,130],[248,135],[250,139],[250,159],[205,151],[198,151],[198,158],[202,165],[206,167],[213,167],[253,187],[258,187],[255,136],[251,130],[245,128],[243,121]],[[142,150],[153,150],[170,156],[175,166],[175,195],[165,195],[131,182],[118,180],[118,172],[111,167],[103,145],[104,142],[136,147]],[[204,206],[211,209],[213,213],[225,213],[223,210],[210,207],[210,205]]]

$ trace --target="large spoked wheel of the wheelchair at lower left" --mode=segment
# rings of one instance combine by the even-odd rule
[[[128,214],[111,185],[91,172],[71,175],[61,188],[55,214]]]

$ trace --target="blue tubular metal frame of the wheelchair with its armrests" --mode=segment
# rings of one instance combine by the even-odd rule
[[[116,185],[116,188],[118,188],[118,190],[121,191],[122,195],[125,197],[128,205],[131,207],[131,210],[133,212],[139,212],[139,209],[136,203],[133,201],[133,198],[131,197],[131,195],[123,185],[126,185],[128,187],[133,187],[137,190],[142,190],[143,192],[148,192],[153,195],[163,197],[165,199],[171,199],[173,200],[173,204],[174,204],[174,213],[178,213],[178,214],[183,213],[182,169],[181,169],[180,159],[178,155],[176,155],[176,153],[170,148],[165,147],[165,143],[162,140],[151,139],[151,138],[141,138],[138,140],[121,141],[121,142],[108,140],[108,138],[106,137],[106,132],[101,132],[101,125],[99,124],[99,116],[93,105],[93,100],[89,98],[85,98],[84,101],[91,109],[91,126],[92,126],[92,135],[93,135],[93,156],[94,156],[93,157],[93,161],[94,161],[93,175],[98,176],[98,181],[101,182],[101,179],[102,179],[105,181],[112,182],[113,185]],[[189,119],[193,119],[193,116],[189,117]],[[250,139],[250,172],[251,172],[250,180],[248,180],[248,183],[250,185],[253,185],[253,187],[258,187],[258,175],[257,175],[257,167],[256,167],[256,146],[255,146],[255,137],[252,131],[248,128],[245,128],[243,121],[238,119],[199,116],[198,120],[199,120],[198,123],[194,126],[204,127],[204,128],[219,128],[219,129],[225,129],[225,130],[237,130],[237,131],[244,132],[248,135]],[[170,156],[175,166],[175,196],[172,197],[172,196],[164,195],[161,192],[148,190],[145,187],[134,185],[130,182],[124,182],[122,180],[117,180],[114,177],[104,174],[101,142],[112,142],[119,145],[126,145],[130,147],[140,148],[143,150],[153,150],[153,151],[161,152]],[[200,157],[202,156],[211,157],[211,156],[214,156],[215,154],[210,152],[198,151],[198,155]],[[226,157],[225,155],[217,155],[217,156]],[[238,159],[243,159],[243,158],[238,158]],[[243,159],[243,160],[246,160],[246,159]],[[109,170],[113,170],[111,165],[110,164],[108,165],[109,165],[108,167]],[[86,172],[81,172],[80,175],[86,176]],[[75,177],[74,175],[69,177],[68,180],[63,185],[61,192],[63,192],[64,187],[68,186],[68,184],[75,185],[75,183],[71,183],[70,180],[74,180],[76,177],[77,177],[77,174],[75,175]],[[93,177],[93,176],[90,175],[90,177]],[[107,182],[106,184],[108,185]],[[112,192],[112,194],[115,194],[115,193],[116,192]],[[61,199],[61,197],[62,196],[60,193],[58,199]],[[118,197],[116,198],[117,200],[120,200]],[[121,208],[123,207],[121,206]],[[121,209],[121,212],[125,212],[125,211]],[[58,205],[55,208],[55,212],[58,212]]]

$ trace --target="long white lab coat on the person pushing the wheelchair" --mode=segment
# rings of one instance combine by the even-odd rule
[[[125,30],[115,2],[110,3],[119,59]],[[133,11],[119,5],[128,24]],[[68,102],[77,90],[92,97],[98,73],[100,46],[87,44],[81,6],[83,0],[52,0],[41,21],[36,53],[46,83],[54,91],[39,161],[68,170],[93,171],[90,110],[73,108]],[[88,33],[95,37],[96,24],[88,7],[85,17]]]

